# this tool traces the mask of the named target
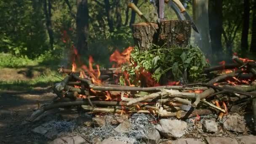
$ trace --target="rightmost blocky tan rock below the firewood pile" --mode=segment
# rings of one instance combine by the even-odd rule
[[[244,133],[246,131],[246,124],[243,117],[238,114],[227,115],[223,117],[223,127],[227,131],[236,131],[240,133]]]

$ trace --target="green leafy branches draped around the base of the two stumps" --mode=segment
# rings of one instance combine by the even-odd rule
[[[147,51],[139,51],[139,48],[135,47],[131,53],[131,64],[123,66],[122,70],[128,72],[132,83],[137,80],[136,72],[141,72],[141,68],[151,72],[157,82],[165,74],[171,74],[173,80],[181,80],[185,70],[189,74],[189,80],[196,81],[202,78],[203,68],[208,66],[205,56],[197,47],[153,46]],[[121,82],[123,79],[122,77]]]

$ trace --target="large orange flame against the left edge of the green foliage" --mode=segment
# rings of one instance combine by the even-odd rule
[[[130,54],[133,50],[133,47],[126,48],[122,53],[115,51],[109,58],[110,62],[115,61],[117,66],[120,66],[124,63],[130,63]]]

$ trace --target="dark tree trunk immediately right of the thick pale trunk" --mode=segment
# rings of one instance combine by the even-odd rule
[[[222,52],[222,0],[209,0],[209,27],[211,48],[218,56]]]

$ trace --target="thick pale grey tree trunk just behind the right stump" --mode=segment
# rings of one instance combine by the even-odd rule
[[[200,35],[195,33],[195,44],[211,60],[211,38],[209,33],[208,0],[193,0],[193,19]]]

